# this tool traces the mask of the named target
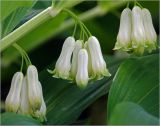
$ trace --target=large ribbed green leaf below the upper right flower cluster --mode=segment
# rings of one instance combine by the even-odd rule
[[[129,58],[118,69],[109,91],[108,117],[116,104],[132,101],[158,117],[158,54]]]

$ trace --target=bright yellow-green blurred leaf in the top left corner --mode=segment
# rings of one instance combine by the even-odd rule
[[[20,7],[32,6],[34,0],[2,0],[1,1],[1,18],[0,21],[4,20],[9,14]]]

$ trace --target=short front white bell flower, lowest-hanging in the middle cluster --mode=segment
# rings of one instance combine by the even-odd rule
[[[78,53],[76,83],[79,87],[85,87],[88,84],[88,80],[88,53],[85,49],[81,49]]]

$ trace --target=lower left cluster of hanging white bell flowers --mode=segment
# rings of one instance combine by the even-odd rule
[[[38,118],[42,122],[46,120],[46,105],[35,66],[28,67],[26,76],[22,72],[14,74],[5,101],[5,109],[8,112]]]

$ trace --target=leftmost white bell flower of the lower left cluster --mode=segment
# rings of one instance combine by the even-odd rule
[[[9,112],[18,112],[20,107],[20,94],[23,73],[16,72],[12,78],[11,87],[5,101],[5,109]]]

